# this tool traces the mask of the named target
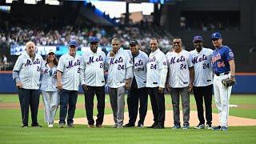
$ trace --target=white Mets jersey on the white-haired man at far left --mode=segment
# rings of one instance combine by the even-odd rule
[[[18,78],[22,82],[22,88],[30,90],[39,89],[42,62],[42,56],[39,54],[35,54],[34,61],[26,52],[18,56],[14,65],[14,71],[18,71]]]

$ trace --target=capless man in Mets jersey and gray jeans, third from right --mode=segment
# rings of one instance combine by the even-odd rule
[[[189,129],[190,127],[190,94],[194,81],[194,68],[190,61],[190,53],[182,50],[182,39],[173,39],[174,50],[166,54],[168,63],[168,79],[167,90],[170,90],[173,110],[174,110],[174,127],[179,129],[180,110],[179,110],[179,96],[182,98],[182,112],[183,112],[183,127],[182,129]]]

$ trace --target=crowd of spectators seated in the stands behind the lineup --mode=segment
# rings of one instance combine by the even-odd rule
[[[131,39],[141,42],[141,49],[149,48],[150,38],[159,38],[162,49],[170,49],[170,38],[163,34],[159,27],[141,26],[62,26],[61,28],[46,28],[40,26],[6,26],[0,31],[0,45],[7,46],[25,45],[29,40],[36,46],[63,46],[70,40],[78,41],[79,46],[89,46],[88,39],[97,36],[100,39],[99,46],[110,47],[112,38],[120,38],[123,48],[128,48]]]

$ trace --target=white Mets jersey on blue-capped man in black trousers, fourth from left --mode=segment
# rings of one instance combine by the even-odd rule
[[[82,56],[81,63],[81,85],[87,86],[104,86],[104,63],[106,54],[103,51],[98,50],[94,53],[91,50],[87,50]]]

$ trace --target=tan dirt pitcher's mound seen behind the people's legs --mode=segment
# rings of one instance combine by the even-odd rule
[[[94,117],[94,120],[96,117]],[[138,118],[137,118],[138,119]],[[124,124],[126,124],[129,121],[128,113],[125,113],[125,119]],[[229,116],[229,126],[256,126],[256,119],[251,118],[240,118],[240,117],[234,117]],[[182,118],[182,111],[181,111],[181,122],[183,122]],[[213,126],[218,126],[218,114],[213,114]],[[198,121],[198,113],[197,111],[190,111],[190,126],[197,126],[199,123]],[[88,124],[86,118],[74,118],[74,124]],[[103,125],[113,125],[113,115],[112,114],[106,114],[104,116],[104,122]],[[138,121],[135,123],[138,124]],[[148,110],[144,122],[144,126],[151,126],[153,124],[153,113],[152,110]],[[166,110],[166,127],[171,127],[174,125],[174,118],[173,118],[173,110]]]

